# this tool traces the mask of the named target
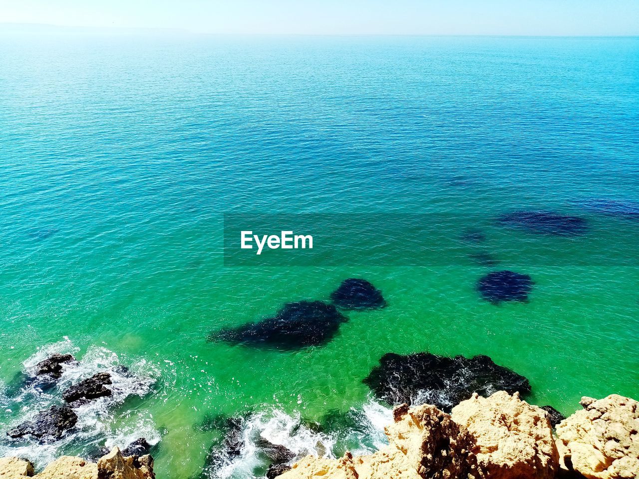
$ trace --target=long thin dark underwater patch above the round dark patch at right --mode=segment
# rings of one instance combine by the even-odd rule
[[[554,236],[579,236],[588,231],[585,219],[553,211],[512,211],[500,215],[497,222],[507,227]]]

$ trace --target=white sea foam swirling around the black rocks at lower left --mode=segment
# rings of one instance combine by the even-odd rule
[[[24,361],[24,373],[33,377],[35,366],[51,354],[75,354],[79,348],[73,346],[70,340],[40,348],[33,356]],[[0,404],[18,418],[13,425],[30,420],[39,411],[54,404],[62,404],[62,393],[79,383],[82,379],[93,376],[98,372],[111,374],[112,384],[107,388],[112,395],[92,400],[84,406],[74,409],[78,416],[75,427],[68,430],[65,436],[54,443],[42,444],[27,436],[11,440],[6,436],[0,438],[0,457],[17,455],[26,457],[42,467],[62,454],[93,453],[104,443],[105,446],[127,446],[138,437],[145,437],[151,444],[160,440],[160,434],[150,413],[144,410],[118,411],[117,406],[132,396],[144,397],[151,391],[153,384],[160,376],[157,365],[144,359],[128,360],[121,358],[105,347],[93,346],[77,363],[63,365],[63,373],[56,384],[47,389],[37,380],[27,381],[13,397],[2,399]],[[126,418],[126,420],[123,420]]]

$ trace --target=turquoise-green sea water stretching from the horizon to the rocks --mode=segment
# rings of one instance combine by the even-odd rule
[[[58,400],[15,379],[50,351],[84,358],[69,381],[118,363],[155,381],[23,455],[143,432],[158,477],[189,478],[215,436],[197,427],[207,416],[371,407],[361,381],[389,351],[488,354],[530,379],[531,402],[564,413],[582,395],[639,397],[639,221],[584,208],[639,202],[638,38],[1,40],[0,429]],[[492,225],[512,209],[592,227],[557,238]],[[459,218],[450,238],[479,218],[486,244],[468,253],[534,290],[492,305],[475,284],[495,268],[380,266],[366,250],[330,266],[224,267],[227,211],[437,213]],[[288,301],[328,300],[348,277],[389,306],[349,313],[326,346],[206,341]]]

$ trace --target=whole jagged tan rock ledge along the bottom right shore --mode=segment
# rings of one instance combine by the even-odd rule
[[[450,414],[422,404],[395,407],[389,446],[340,459],[307,456],[281,479],[637,479],[639,402],[584,397],[558,423],[550,413],[500,391],[474,394]]]

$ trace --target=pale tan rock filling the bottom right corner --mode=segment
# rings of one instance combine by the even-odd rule
[[[581,406],[557,425],[566,462],[589,479],[639,478],[639,402],[612,394]]]

